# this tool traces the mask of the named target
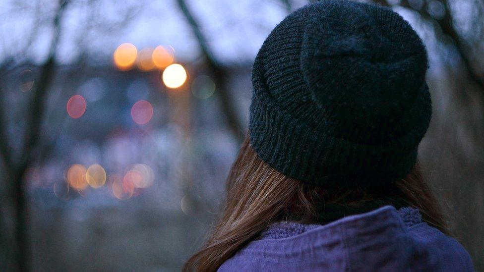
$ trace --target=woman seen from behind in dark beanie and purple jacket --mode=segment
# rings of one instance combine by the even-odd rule
[[[424,45],[390,9],[322,0],[255,59],[227,206],[185,271],[472,271],[416,163]]]

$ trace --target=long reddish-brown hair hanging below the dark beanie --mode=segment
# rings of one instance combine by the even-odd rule
[[[289,178],[264,163],[245,138],[227,178],[227,204],[211,236],[183,267],[183,271],[216,271],[269,224],[280,220],[317,222],[321,203],[361,206],[388,197],[418,208],[423,220],[448,233],[436,200],[425,184],[418,165],[384,192],[354,188],[323,190]]]

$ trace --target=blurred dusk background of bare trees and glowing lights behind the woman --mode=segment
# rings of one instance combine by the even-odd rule
[[[375,0],[424,40],[424,174],[484,271],[484,2]],[[307,0],[2,0],[0,270],[178,271],[217,218],[253,58]]]

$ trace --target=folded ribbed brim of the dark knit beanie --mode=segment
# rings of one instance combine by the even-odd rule
[[[252,148],[265,163],[288,177],[327,186],[363,181],[369,186],[380,185],[411,171],[430,122],[431,100],[426,84],[422,86],[425,91],[415,97],[415,107],[410,108],[425,111],[419,114],[417,125],[401,137],[368,145],[328,135],[281,109],[265,86],[262,67],[259,53],[252,70],[249,133]]]

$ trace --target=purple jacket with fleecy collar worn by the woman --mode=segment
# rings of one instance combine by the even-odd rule
[[[473,271],[454,238],[412,208],[385,206],[326,225],[272,224],[219,271]]]

